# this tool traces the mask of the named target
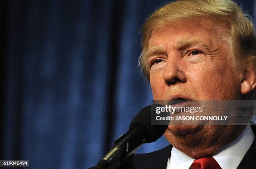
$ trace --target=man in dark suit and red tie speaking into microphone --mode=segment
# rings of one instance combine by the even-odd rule
[[[179,0],[148,17],[139,63],[154,100],[252,100],[256,87],[253,23],[231,0]],[[255,99],[255,98],[254,98]],[[170,146],[133,158],[135,169],[255,169],[246,125],[176,125]]]

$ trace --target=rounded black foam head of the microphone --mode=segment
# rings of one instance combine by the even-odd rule
[[[156,107],[163,107],[161,104],[152,104],[147,106],[134,117],[133,121],[130,124],[129,129],[134,128],[135,126],[142,125],[144,129],[146,139],[143,143],[155,142],[159,139],[164,132],[166,131],[168,125],[151,125],[151,111],[156,112]]]

